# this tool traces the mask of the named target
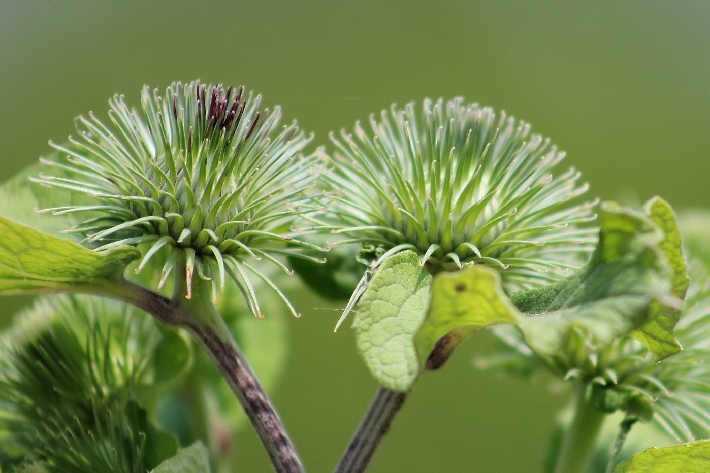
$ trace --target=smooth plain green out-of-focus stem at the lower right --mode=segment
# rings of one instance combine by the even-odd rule
[[[584,386],[579,386],[574,418],[564,435],[555,473],[586,472],[605,417],[584,400]]]

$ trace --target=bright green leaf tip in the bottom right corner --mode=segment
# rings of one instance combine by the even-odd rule
[[[710,473],[710,440],[649,448],[618,464],[614,473]]]

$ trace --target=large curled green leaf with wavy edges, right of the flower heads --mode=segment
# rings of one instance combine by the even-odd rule
[[[655,218],[667,222],[670,208],[657,202],[651,204]],[[521,311],[532,315],[520,322],[532,350],[558,354],[572,329],[581,330],[592,345],[606,345],[638,329],[640,341],[657,359],[672,353],[674,311],[681,303],[673,288],[680,278],[666,253],[679,253],[671,243],[671,226],[664,223],[664,228],[670,236],[654,218],[612,202],[601,204],[599,244],[591,262],[567,279],[512,296]]]

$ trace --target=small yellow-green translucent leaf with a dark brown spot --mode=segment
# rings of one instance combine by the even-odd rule
[[[488,325],[518,323],[520,313],[510,303],[501,286],[501,276],[495,269],[473,265],[456,272],[437,274],[427,317],[415,335],[420,360],[430,356],[437,341],[447,337],[439,360],[430,360],[439,367],[454,348],[469,335]]]

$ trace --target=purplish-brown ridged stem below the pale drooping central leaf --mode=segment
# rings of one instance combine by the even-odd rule
[[[378,387],[355,435],[334,473],[361,473],[367,468],[378,445],[387,433],[404,400],[405,393]]]

